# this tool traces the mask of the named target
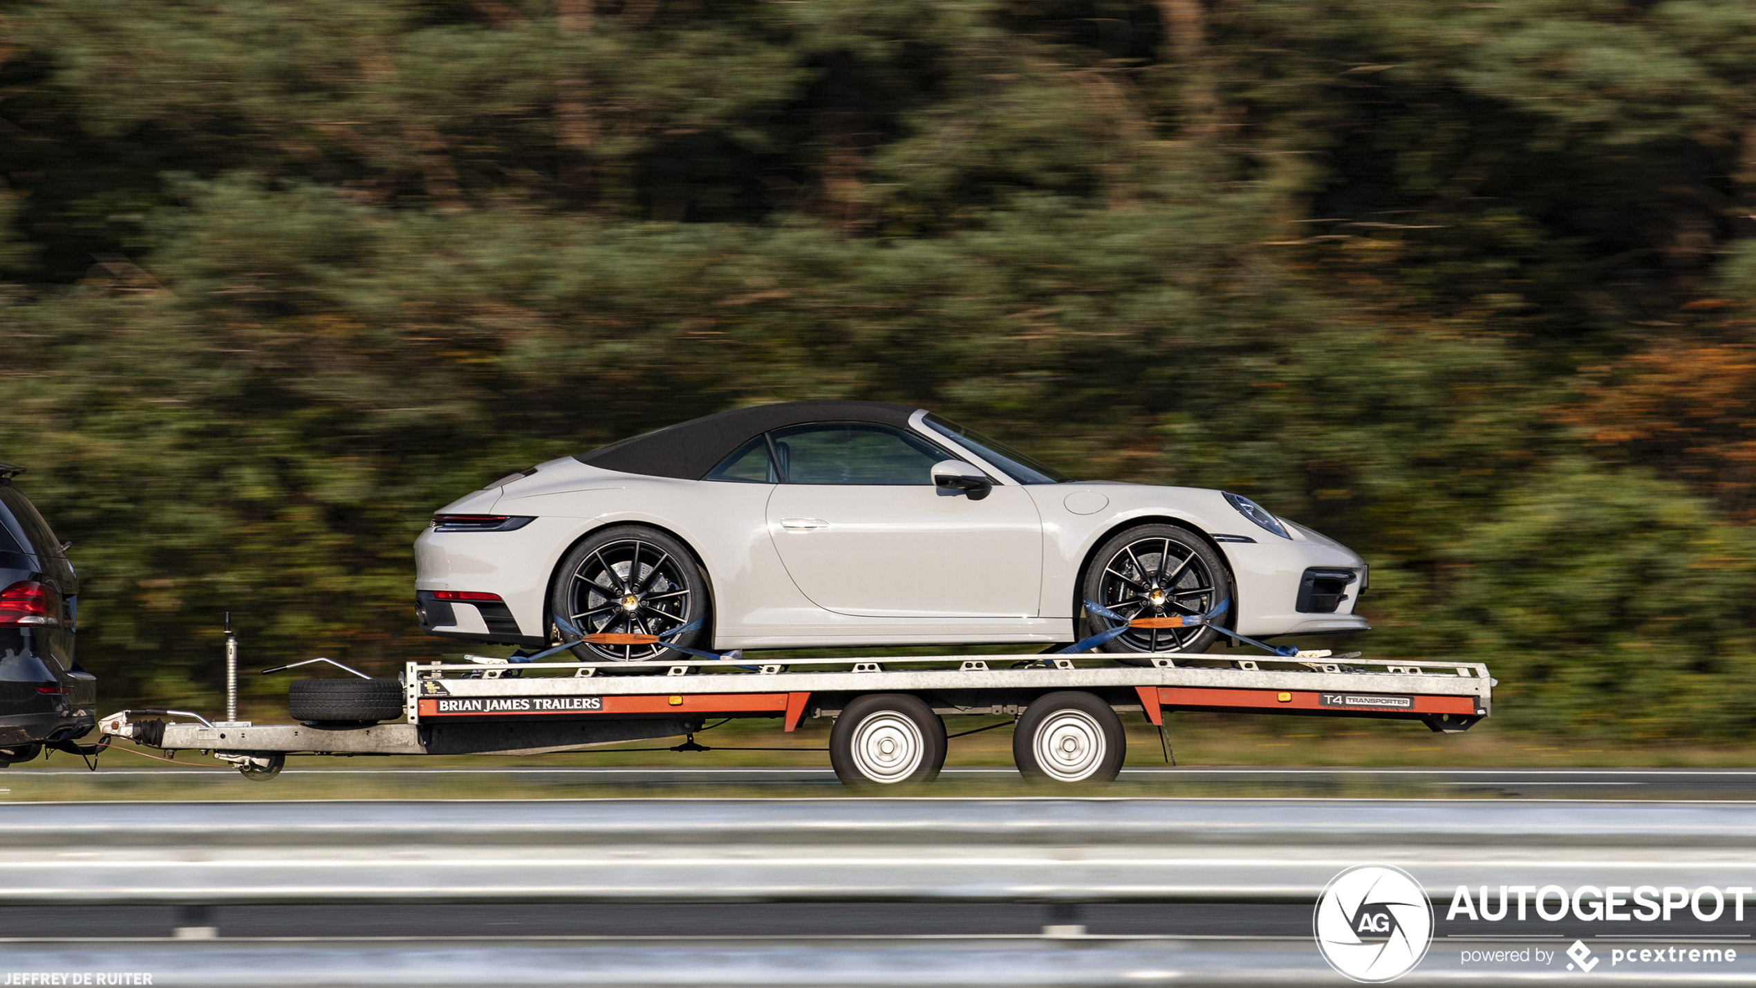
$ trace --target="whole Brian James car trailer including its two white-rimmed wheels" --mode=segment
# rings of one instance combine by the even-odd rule
[[[1482,663],[1412,665],[1324,651],[1133,658],[1150,665],[1117,665],[1113,653],[773,665],[743,656],[690,663],[465,658],[411,662],[400,679],[356,672],[363,683],[295,681],[290,709],[302,723],[211,723],[188,711],[133,709],[98,727],[149,748],[202,751],[246,777],[269,779],[288,755],[541,755],[660,737],[687,737],[673,751],[708,751],[694,734],[709,720],[774,718],[792,732],[806,716],[834,718],[836,776],[855,790],[896,791],[931,783],[945,765],[941,716],[1010,714],[1024,777],[1082,786],[1106,784],[1120,772],[1120,714],[1140,712],[1157,725],[1169,760],[1168,711],[1417,720],[1456,734],[1489,714],[1494,686]],[[393,718],[400,721],[378,723]]]

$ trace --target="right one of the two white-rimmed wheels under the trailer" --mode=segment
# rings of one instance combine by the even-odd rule
[[[1127,732],[1090,693],[1038,697],[1011,732],[1011,760],[1034,786],[1108,786],[1127,758]]]

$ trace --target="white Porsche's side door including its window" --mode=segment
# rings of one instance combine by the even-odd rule
[[[857,421],[769,433],[781,484],[769,535],[818,607],[873,618],[1033,618],[1043,523],[1024,488],[982,500],[932,486],[955,460],[913,432]]]

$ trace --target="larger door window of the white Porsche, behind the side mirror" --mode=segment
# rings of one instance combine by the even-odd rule
[[[932,465],[954,460],[918,435],[864,421],[795,425],[769,437],[788,484],[931,486]]]

